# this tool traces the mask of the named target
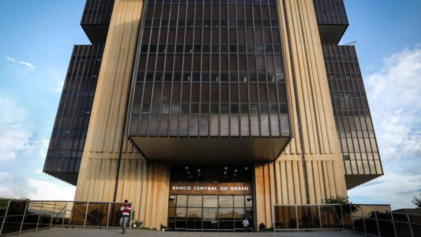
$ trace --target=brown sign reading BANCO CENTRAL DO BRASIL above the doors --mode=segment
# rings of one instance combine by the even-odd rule
[[[252,195],[251,183],[170,182],[170,194]]]

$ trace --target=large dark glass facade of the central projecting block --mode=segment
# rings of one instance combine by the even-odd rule
[[[129,136],[288,137],[276,0],[147,0]]]

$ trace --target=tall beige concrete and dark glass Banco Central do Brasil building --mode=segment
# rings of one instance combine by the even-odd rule
[[[145,226],[239,231],[383,174],[342,0],[87,0],[44,172]]]

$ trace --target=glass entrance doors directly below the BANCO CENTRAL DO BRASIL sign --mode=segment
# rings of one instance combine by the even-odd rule
[[[175,231],[242,232],[253,223],[250,195],[170,195],[168,227]]]

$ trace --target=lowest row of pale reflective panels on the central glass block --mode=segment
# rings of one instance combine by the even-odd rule
[[[133,114],[129,136],[180,137],[289,137],[287,114],[228,115],[182,114],[169,119],[166,114]],[[200,119],[199,119],[200,118]]]

